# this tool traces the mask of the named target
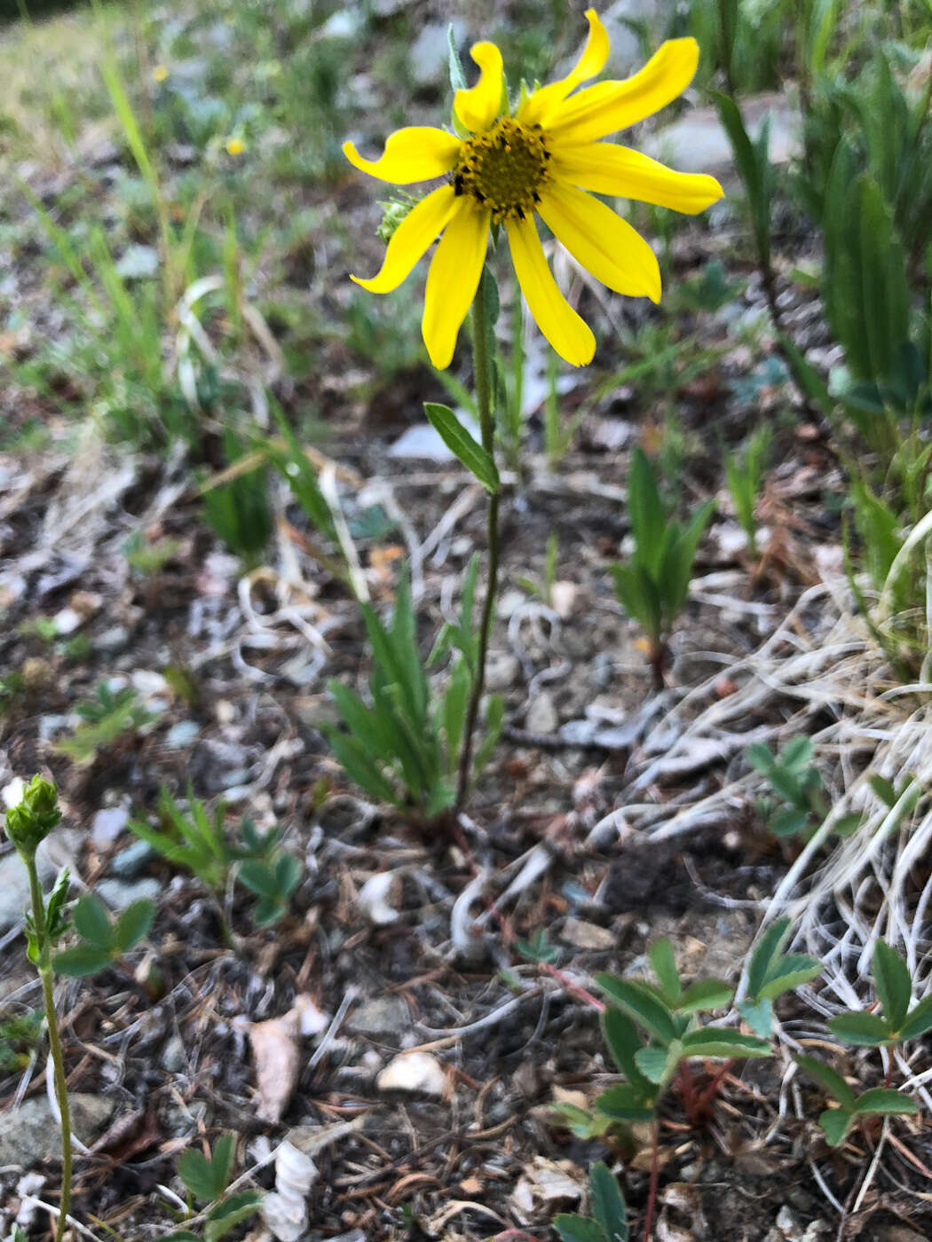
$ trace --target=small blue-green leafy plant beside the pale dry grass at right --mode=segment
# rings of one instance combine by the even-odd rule
[[[806,737],[790,738],[779,755],[763,741],[748,746],[746,758],[767,777],[777,799],[759,799],[758,811],[770,832],[778,837],[802,833],[809,840],[829,814],[821,775],[813,763],[815,748]],[[861,815],[844,815],[835,822],[839,836],[850,836],[861,823]]]

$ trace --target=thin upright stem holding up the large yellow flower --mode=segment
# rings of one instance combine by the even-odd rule
[[[492,375],[493,359],[491,356],[490,337],[491,324],[486,315],[485,284],[492,277],[488,271],[482,272],[476,297],[472,302],[472,370],[476,384],[476,409],[478,411],[478,425],[482,437],[482,447],[492,460],[495,460],[495,419],[492,415]],[[466,723],[462,735],[462,750],[460,751],[460,776],[456,787],[456,810],[461,811],[470,792],[473,734],[476,732],[476,719],[482,692],[486,684],[486,656],[488,653],[488,638],[492,631],[492,619],[495,616],[495,597],[498,586],[498,493],[488,498],[488,578],[486,580],[486,596],[482,602],[482,619],[478,631],[478,658],[472,681],[472,693],[466,708]]]

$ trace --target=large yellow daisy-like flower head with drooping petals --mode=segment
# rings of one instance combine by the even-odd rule
[[[660,299],[660,268],[647,242],[610,207],[587,194],[618,195],[697,212],[722,196],[713,176],[675,173],[647,155],[600,139],[659,112],[690,84],[698,62],[693,39],[665,42],[640,72],[621,82],[577,89],[601,72],[609,37],[589,9],[589,39],[569,76],[526,93],[503,111],[502,55],[495,43],[471,50],[481,76],[456,92],[459,138],[413,125],[390,134],[380,159],[352,143],[347,159],[383,181],[409,185],[445,178],[395,231],[378,276],[353,279],[389,293],[442,232],[427,273],[421,323],[435,366],[450,365],[460,327],[485,263],[488,231],[502,225],[514,272],[541,332],[568,363],[590,361],[595,339],[557,287],[534,214],[569,253],[616,293]]]

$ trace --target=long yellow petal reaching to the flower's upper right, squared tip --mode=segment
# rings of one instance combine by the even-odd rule
[[[682,94],[697,65],[695,39],[670,39],[634,77],[596,82],[562,103],[548,130],[557,140],[584,143],[634,125]]]

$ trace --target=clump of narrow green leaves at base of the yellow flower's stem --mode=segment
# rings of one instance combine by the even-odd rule
[[[478,655],[472,602],[478,574],[473,556],[466,571],[460,617],[447,622],[427,664],[450,651],[455,658],[446,689],[434,699],[418,646],[416,617],[406,575],[395,596],[389,626],[362,605],[373,653],[370,704],[331,682],[344,729],[328,729],[333,751],[347,775],[373,797],[400,809],[414,809],[426,821],[436,820],[456,801],[456,774],[465,741],[470,692],[477,676]],[[490,699],[486,737],[478,746],[472,774],[478,774],[501,730],[503,703]]]

